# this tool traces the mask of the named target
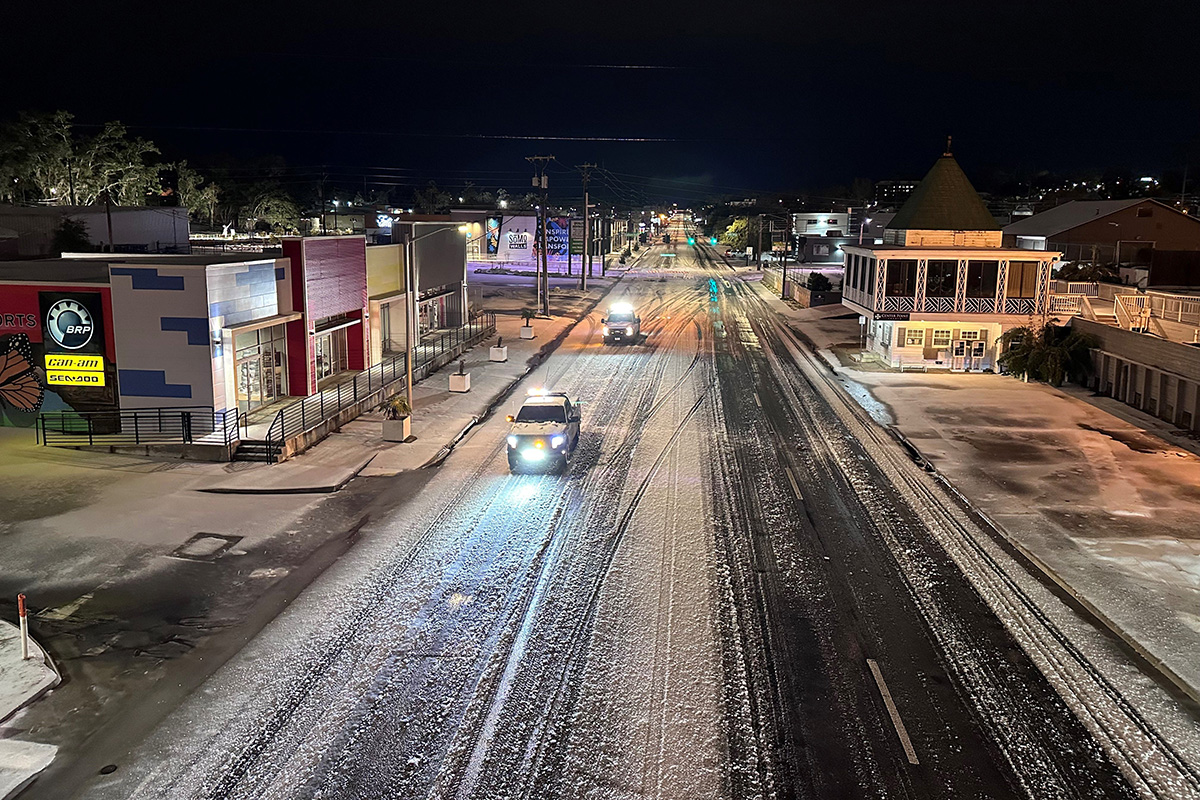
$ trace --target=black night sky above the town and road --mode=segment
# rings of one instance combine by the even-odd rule
[[[1195,7],[12,0],[0,115],[352,184],[523,191],[523,157],[553,154],[554,188],[588,161],[680,201],[920,178],[947,133],[977,184],[1156,172],[1200,163]]]

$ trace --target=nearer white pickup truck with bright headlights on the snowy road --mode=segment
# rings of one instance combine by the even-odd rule
[[[533,390],[508,416],[509,469],[565,471],[580,443],[580,403],[563,392]]]

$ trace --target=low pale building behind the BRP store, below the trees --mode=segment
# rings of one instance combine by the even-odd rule
[[[0,205],[0,260],[50,258],[54,234],[65,218],[84,224],[97,251],[109,243],[118,253],[187,253],[187,209],[175,206]],[[109,241],[112,218],[112,242]]]

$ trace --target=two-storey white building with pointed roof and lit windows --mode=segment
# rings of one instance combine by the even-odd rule
[[[842,305],[866,351],[893,367],[994,369],[1004,331],[1049,307],[1055,251],[1002,245],[1002,231],[949,152],[883,231],[844,245]]]

